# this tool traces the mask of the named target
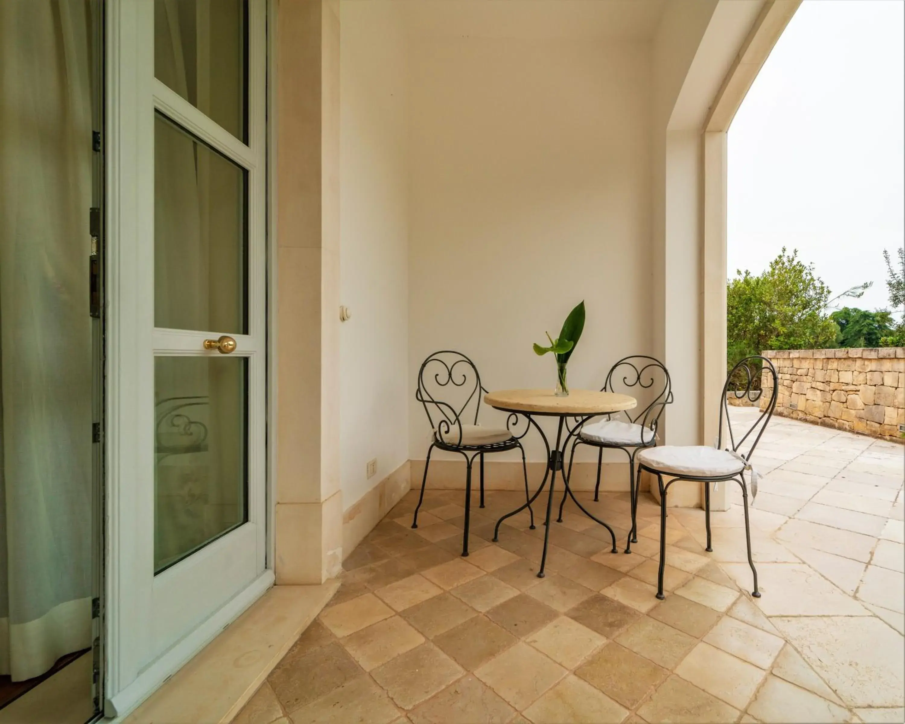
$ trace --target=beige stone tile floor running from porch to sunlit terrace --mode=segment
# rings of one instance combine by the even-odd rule
[[[611,553],[573,507],[539,579],[543,526],[519,516],[490,542],[518,493],[472,503],[462,558],[462,491],[428,491],[417,530],[412,491],[236,721],[905,720],[905,448],[775,418],[755,462],[759,600],[738,504],[713,514],[710,554],[703,510],[671,509],[660,602],[659,508],[646,495],[631,555]],[[588,504],[622,548],[628,495]]]

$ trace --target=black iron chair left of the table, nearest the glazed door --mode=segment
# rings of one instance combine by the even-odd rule
[[[489,452],[521,451],[522,472],[525,475],[525,499],[529,500],[528,465],[525,449],[521,446],[520,435],[513,434],[509,425],[517,415],[510,414],[507,427],[482,427],[478,424],[481,409],[481,393],[487,390],[481,386],[478,368],[461,352],[444,349],[427,357],[418,371],[418,388],[414,396],[422,405],[433,429],[433,441],[427,449],[424,461],[424,478],[421,481],[421,495],[414,509],[412,528],[418,527],[418,510],[424,502],[424,486],[427,483],[427,469],[431,464],[434,448],[447,452],[458,452],[465,458],[465,530],[462,536],[462,556],[468,556],[468,529],[472,512],[472,463],[480,461],[481,508],[484,507],[484,455]],[[441,399],[444,397],[445,399]],[[472,407],[474,412],[472,414]],[[527,429],[526,431],[527,432]],[[529,501],[530,502],[530,501]],[[534,529],[534,510],[528,507],[531,529]]]

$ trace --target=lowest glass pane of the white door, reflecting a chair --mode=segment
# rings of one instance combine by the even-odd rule
[[[155,357],[154,572],[248,520],[248,357]]]

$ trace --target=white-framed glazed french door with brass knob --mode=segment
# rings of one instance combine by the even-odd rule
[[[108,4],[107,686],[129,709],[271,583],[263,0]]]

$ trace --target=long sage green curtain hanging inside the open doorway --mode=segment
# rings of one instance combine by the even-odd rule
[[[0,1],[0,673],[91,641],[90,5]]]

